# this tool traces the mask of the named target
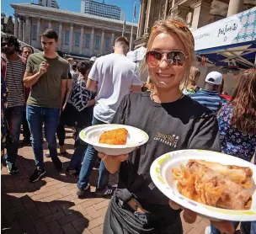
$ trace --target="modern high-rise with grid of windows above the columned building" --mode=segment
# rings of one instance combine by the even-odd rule
[[[123,13],[119,7],[95,2],[94,0],[81,0],[80,12],[108,19],[123,19]]]

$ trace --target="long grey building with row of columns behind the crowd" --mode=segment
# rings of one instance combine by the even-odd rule
[[[59,35],[58,50],[74,56],[97,56],[112,52],[115,39],[122,35],[123,21],[74,13],[56,8],[21,3],[14,9],[14,35],[19,40],[41,48],[40,32],[54,29]],[[131,39],[131,23],[126,23],[125,36]],[[133,24],[136,39],[137,24]]]

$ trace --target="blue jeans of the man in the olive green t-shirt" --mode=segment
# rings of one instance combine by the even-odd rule
[[[43,123],[45,123],[45,139],[51,157],[57,157],[56,128],[59,122],[60,109],[27,106],[27,120],[32,138],[32,148],[35,155],[35,166],[44,169],[44,152],[42,144]]]

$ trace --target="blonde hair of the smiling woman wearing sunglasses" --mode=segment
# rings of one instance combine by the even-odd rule
[[[157,21],[152,27],[147,43],[147,52],[152,49],[152,44],[157,35],[161,33],[175,33],[184,45],[185,54],[188,57],[189,66],[195,61],[195,40],[190,30],[185,26],[184,20],[171,18]],[[188,66],[188,67],[189,67]],[[144,72],[147,69],[146,58],[141,62],[140,70]],[[186,78],[189,71],[186,72]],[[151,82],[151,81],[150,81]]]

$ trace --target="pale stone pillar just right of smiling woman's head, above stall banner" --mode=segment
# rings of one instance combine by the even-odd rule
[[[212,0],[197,0],[195,3],[192,29],[198,29],[209,23]]]

